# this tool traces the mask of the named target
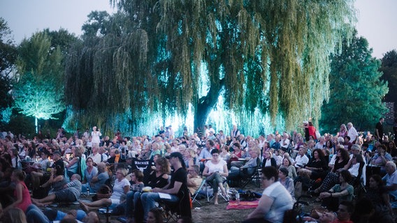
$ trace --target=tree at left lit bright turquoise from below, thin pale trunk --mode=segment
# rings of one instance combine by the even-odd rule
[[[22,114],[35,118],[54,118],[64,110],[62,52],[52,47],[45,32],[24,39],[18,47],[17,69],[13,97]]]

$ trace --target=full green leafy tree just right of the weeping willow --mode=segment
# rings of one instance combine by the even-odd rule
[[[381,80],[380,61],[371,56],[366,38],[343,41],[342,53],[331,56],[330,100],[322,107],[320,127],[335,133],[342,123],[352,122],[357,130],[373,130],[386,112],[382,99],[387,82]]]

